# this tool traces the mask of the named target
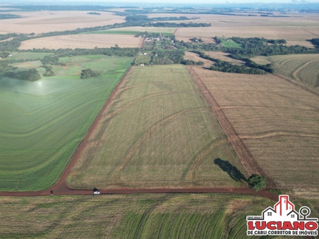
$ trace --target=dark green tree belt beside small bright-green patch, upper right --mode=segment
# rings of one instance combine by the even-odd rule
[[[312,49],[307,47],[296,46],[284,46],[282,42],[284,40],[269,40],[259,37],[241,38],[232,37],[234,42],[241,44],[242,48],[228,48],[227,52],[231,53],[236,59],[251,58],[253,56],[272,56],[272,55],[286,55],[286,54],[308,54],[319,53],[319,49]],[[269,45],[267,42],[274,42]]]

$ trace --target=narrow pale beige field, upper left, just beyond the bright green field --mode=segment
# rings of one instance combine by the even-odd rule
[[[134,37],[133,35],[64,35],[30,39],[21,42],[19,49],[93,49],[95,47],[114,47],[115,44],[118,44],[119,47],[140,47],[143,44],[143,38]]]

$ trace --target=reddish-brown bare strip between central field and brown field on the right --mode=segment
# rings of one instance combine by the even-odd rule
[[[243,168],[245,168],[246,173],[251,176],[252,174],[259,174],[261,176],[265,176],[267,178],[268,186],[274,187],[275,183],[271,178],[269,178],[263,169],[259,166],[258,162],[253,157],[253,154],[249,151],[248,147],[243,143],[243,140],[239,137],[236,133],[236,130],[229,122],[229,119],[224,114],[224,111],[220,108],[219,104],[216,102],[215,98],[210,94],[210,91],[207,90],[207,87],[200,79],[200,77],[195,73],[191,66],[186,66],[188,68],[189,73],[194,78],[195,82],[198,84],[198,87],[204,94],[207,103],[210,105],[213,113],[215,114],[217,121],[219,122],[220,126],[224,130],[224,133],[227,135],[231,146],[234,148]]]

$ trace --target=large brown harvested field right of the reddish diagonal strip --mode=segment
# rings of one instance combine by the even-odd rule
[[[318,95],[275,75],[193,69],[278,188],[318,192]]]

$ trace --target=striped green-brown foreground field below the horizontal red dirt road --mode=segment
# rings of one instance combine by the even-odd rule
[[[274,204],[229,194],[0,197],[0,238],[275,238],[246,235],[246,216]],[[307,205],[318,215],[315,200]]]

